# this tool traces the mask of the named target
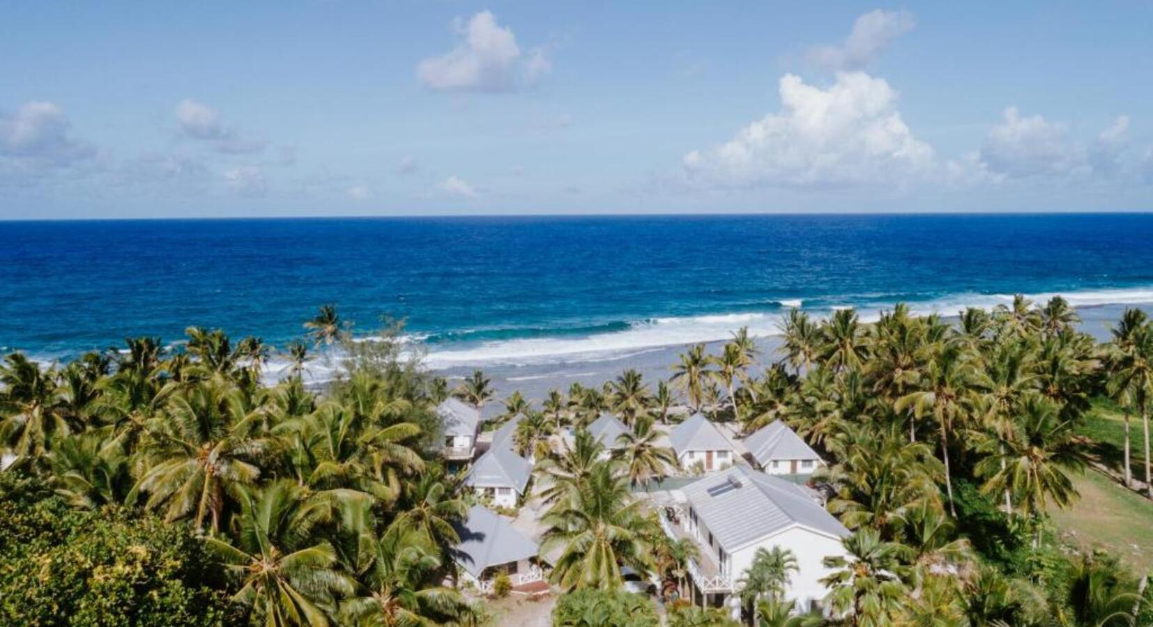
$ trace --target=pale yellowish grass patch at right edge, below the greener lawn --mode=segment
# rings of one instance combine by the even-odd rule
[[[1053,521],[1077,544],[1103,547],[1141,573],[1153,573],[1153,501],[1094,470],[1075,477],[1080,500]]]

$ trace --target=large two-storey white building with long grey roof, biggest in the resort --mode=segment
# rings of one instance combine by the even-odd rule
[[[734,606],[734,592],[758,549],[781,546],[793,552],[798,572],[785,596],[809,610],[828,595],[821,579],[829,574],[823,559],[845,556],[849,535],[841,522],[807,489],[744,466],[702,477],[670,492],[661,526],[671,537],[688,537],[701,557],[689,561],[692,600]],[[739,606],[736,607],[739,612]]]

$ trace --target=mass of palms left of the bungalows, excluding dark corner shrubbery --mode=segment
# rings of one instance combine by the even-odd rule
[[[346,339],[336,311],[311,343]],[[193,327],[182,350],[130,339],[62,368],[0,368],[8,471],[45,477],[78,508],[153,512],[197,530],[261,625],[472,625],[453,575],[460,486],[429,452],[432,380],[357,362],[324,394],[292,367],[261,385],[269,348]]]

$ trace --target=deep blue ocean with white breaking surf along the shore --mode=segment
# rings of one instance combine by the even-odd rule
[[[0,222],[0,350],[282,345],[334,302],[362,333],[406,318],[432,362],[551,358],[771,333],[793,304],[1150,302],[1151,244],[1153,214]]]

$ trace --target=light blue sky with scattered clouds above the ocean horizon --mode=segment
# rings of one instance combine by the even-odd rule
[[[0,15],[0,219],[1153,210],[1136,0]]]

